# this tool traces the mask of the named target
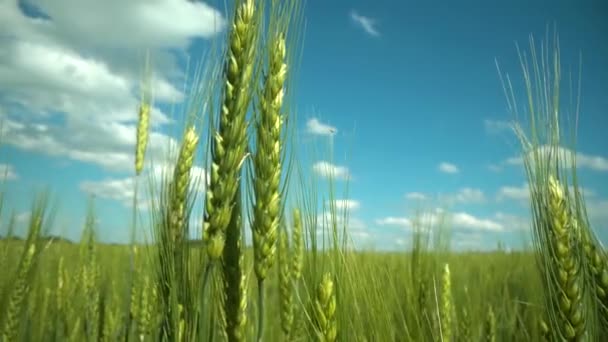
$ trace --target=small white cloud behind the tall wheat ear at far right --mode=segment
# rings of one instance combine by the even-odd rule
[[[559,159],[565,163],[565,165],[570,166],[574,162],[572,159],[572,150],[565,147],[558,147],[557,149],[550,145],[540,146],[538,149],[538,154],[541,158],[547,158],[549,155],[557,154]],[[531,160],[534,158],[534,151],[529,152],[529,157]],[[582,169],[589,169],[594,171],[608,171],[608,158],[602,156],[592,156],[588,154],[584,154],[581,152],[576,153],[576,166]],[[505,161],[507,165],[523,165],[523,158],[521,156],[511,157]]]

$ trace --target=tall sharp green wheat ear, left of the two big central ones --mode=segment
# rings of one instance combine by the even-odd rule
[[[241,165],[247,148],[246,113],[256,57],[256,3],[240,1],[230,32],[219,130],[213,134],[210,181],[205,199],[203,240],[212,261],[222,255]]]

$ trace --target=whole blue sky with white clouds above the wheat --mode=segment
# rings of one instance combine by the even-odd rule
[[[0,2],[0,31],[8,32],[0,35],[7,47],[0,53],[4,218],[14,210],[25,222],[33,195],[50,186],[59,204],[54,232],[74,239],[93,193],[100,238],[125,241],[142,51],[152,51],[155,75],[149,155],[162,158],[179,129],[171,108],[187,101],[184,61],[225,33],[223,8],[178,0]],[[505,129],[513,116],[495,60],[521,95],[515,43],[527,49],[530,34],[540,42],[553,24],[564,75],[578,70],[582,54],[579,176],[591,221],[608,241],[602,1],[309,0],[303,14],[298,152],[332,142],[333,158],[308,155],[303,167],[321,179],[328,169],[344,176],[336,199],[350,208],[359,246],[407,246],[420,207],[429,217],[447,208],[456,249],[521,246],[527,189],[518,142]],[[200,163],[194,173],[205,175]]]

